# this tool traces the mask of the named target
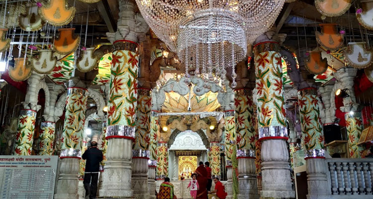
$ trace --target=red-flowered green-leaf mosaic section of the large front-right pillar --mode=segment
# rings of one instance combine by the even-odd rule
[[[286,126],[280,53],[257,53],[255,66],[259,127]]]

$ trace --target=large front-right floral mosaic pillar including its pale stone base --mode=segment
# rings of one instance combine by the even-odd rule
[[[282,88],[280,45],[265,34],[254,45],[263,198],[293,198]]]

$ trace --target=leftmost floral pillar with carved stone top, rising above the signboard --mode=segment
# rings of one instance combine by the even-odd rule
[[[44,75],[32,72],[27,79],[27,92],[25,101],[21,102],[23,109],[19,112],[17,136],[14,143],[14,155],[31,155],[34,141],[34,130],[37,111],[41,105],[37,105],[39,83]]]

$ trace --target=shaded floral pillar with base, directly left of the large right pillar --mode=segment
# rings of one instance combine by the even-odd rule
[[[255,174],[255,115],[252,91],[235,90],[237,159],[239,173],[238,199],[259,199]]]

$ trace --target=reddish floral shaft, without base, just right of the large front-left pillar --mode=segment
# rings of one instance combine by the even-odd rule
[[[134,149],[149,149],[150,144],[150,112],[152,97],[150,89],[137,89],[137,112]]]

